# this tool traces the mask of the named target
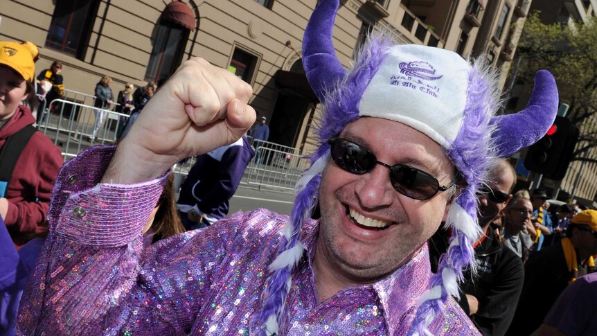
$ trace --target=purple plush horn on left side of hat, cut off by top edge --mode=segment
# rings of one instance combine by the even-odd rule
[[[303,67],[309,84],[321,102],[326,89],[344,78],[346,73],[332,44],[338,5],[338,0],[322,0],[313,11],[303,37]]]

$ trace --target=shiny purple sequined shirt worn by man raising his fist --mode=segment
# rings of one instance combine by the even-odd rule
[[[114,147],[91,148],[60,171],[50,235],[19,310],[25,335],[247,335],[287,217],[262,209],[143,249],[141,230],[165,177],[98,184]],[[427,288],[427,246],[391,276],[318,302],[308,253],[293,274],[281,335],[404,335]],[[479,335],[454,300],[434,335]]]

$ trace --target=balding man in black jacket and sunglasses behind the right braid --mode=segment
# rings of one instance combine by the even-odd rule
[[[463,310],[483,335],[504,335],[514,317],[516,304],[522,290],[524,268],[522,260],[505,247],[492,229],[492,223],[506,204],[516,182],[514,168],[506,159],[498,159],[490,168],[488,182],[479,188],[479,227],[483,236],[474,244],[477,272],[467,272],[460,284],[460,303]],[[447,247],[445,230],[438,230],[429,243],[432,268],[438,260],[439,251]],[[435,249],[432,247],[436,247]],[[435,267],[436,268],[436,267]]]

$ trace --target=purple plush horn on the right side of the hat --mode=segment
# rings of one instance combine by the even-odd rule
[[[549,130],[558,113],[558,87],[549,71],[535,74],[535,87],[526,107],[518,113],[494,116],[492,134],[497,156],[508,157],[539,141]]]

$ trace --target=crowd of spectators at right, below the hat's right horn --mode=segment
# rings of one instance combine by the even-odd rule
[[[531,335],[538,328],[538,335],[594,335],[591,314],[571,314],[561,307],[575,306],[573,300],[585,303],[587,298],[577,292],[591,295],[597,289],[594,276],[582,277],[596,270],[597,211],[577,204],[551,206],[542,188],[513,193],[515,179],[514,169],[502,159],[490,170],[492,183],[479,189],[479,224],[485,234],[474,244],[478,268],[465,274],[458,303],[483,335]],[[429,240],[433,267],[447,249],[448,236],[447,229],[440,229]],[[579,278],[581,289],[562,294]]]

